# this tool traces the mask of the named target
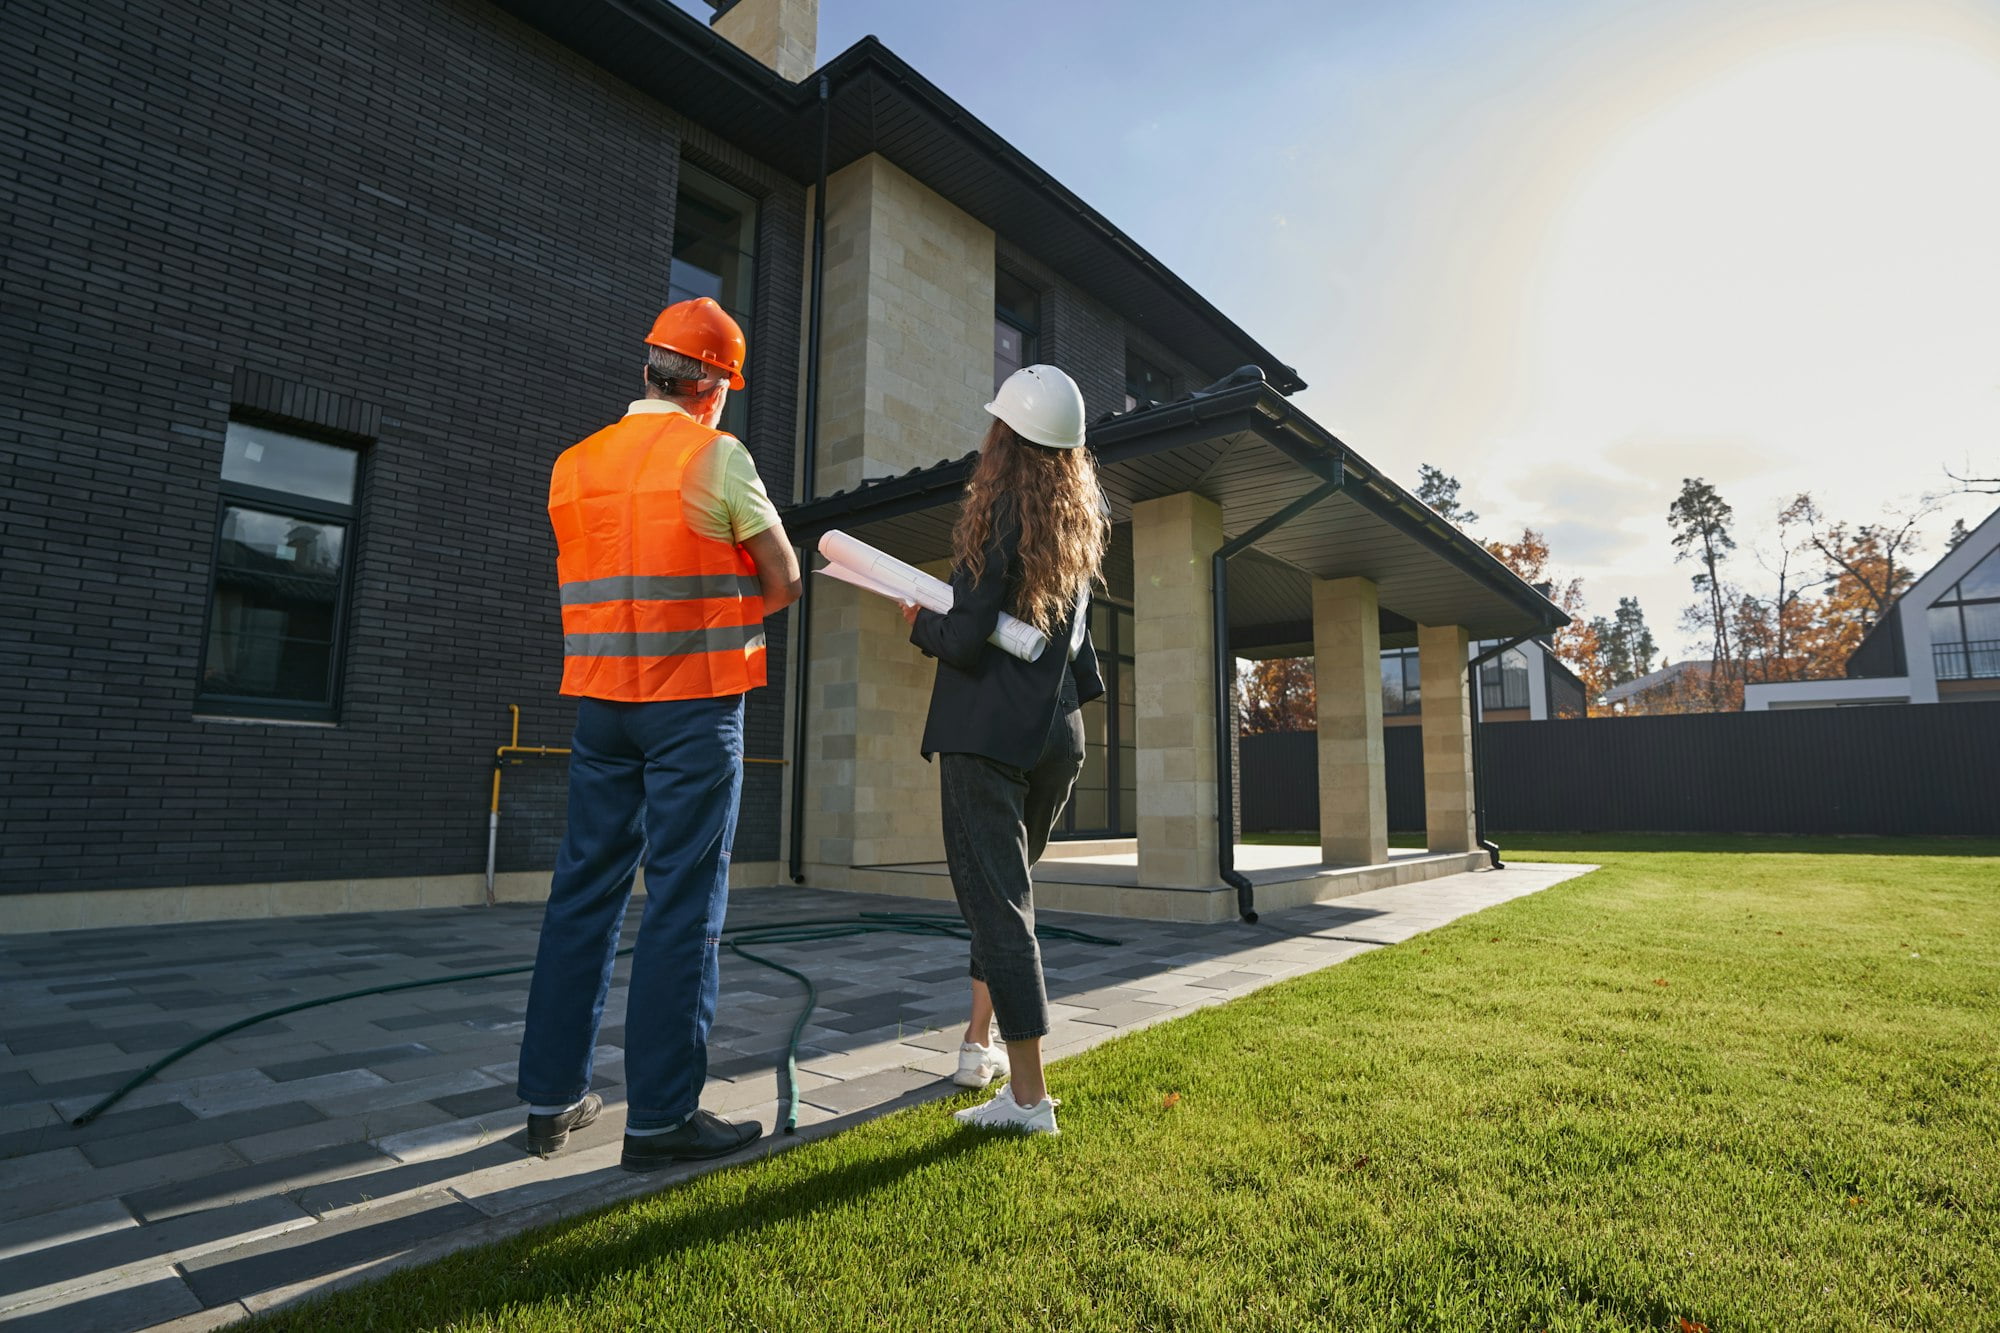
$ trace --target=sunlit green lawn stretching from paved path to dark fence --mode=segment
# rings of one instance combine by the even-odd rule
[[[1516,843],[1606,869],[1064,1061],[1060,1139],[918,1107],[260,1327],[2000,1327],[2000,845]]]

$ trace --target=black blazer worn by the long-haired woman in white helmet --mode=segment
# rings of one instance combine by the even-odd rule
[[[952,568],[952,608],[942,616],[936,610],[916,612],[910,642],[938,658],[938,683],[930,691],[930,719],[924,723],[924,759],[984,755],[1002,765],[1032,769],[1056,721],[1064,673],[1076,681],[1078,705],[1104,695],[1098,650],[1088,628],[1076,660],[1070,660],[1074,610],[1032,662],[986,642],[1020,582],[1018,544],[1020,528],[1002,506],[994,514],[980,580]]]

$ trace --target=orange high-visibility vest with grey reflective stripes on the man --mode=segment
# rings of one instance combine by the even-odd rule
[[[764,685],[756,564],[680,512],[680,478],[720,434],[680,412],[642,412],[556,458],[564,695],[654,703]]]

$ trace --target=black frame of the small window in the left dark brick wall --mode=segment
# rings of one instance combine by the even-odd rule
[[[292,494],[290,490],[272,490],[270,486],[252,486],[248,482],[226,480],[220,476],[220,462],[216,464],[216,516],[212,524],[210,544],[208,544],[208,590],[202,600],[202,638],[200,648],[194,658],[194,717],[204,719],[256,719],[272,723],[340,723],[340,703],[342,685],[346,683],[346,646],[350,630],[350,614],[354,606],[354,566],[360,564],[360,542],[362,542],[362,516],[360,498],[364,486],[368,484],[368,446],[364,440],[354,436],[342,436],[334,430],[314,430],[310,426],[300,426],[296,420],[272,418],[268,414],[242,412],[230,416],[230,424],[258,426],[260,430],[274,430],[278,434],[290,434],[300,440],[312,440],[314,444],[332,444],[336,448],[346,448],[354,452],[354,502],[334,504],[332,500],[320,500],[314,496]],[[204,673],[208,671],[208,642],[214,632],[216,618],[216,574],[222,570],[222,524],[228,518],[230,508],[256,508],[260,512],[278,514],[280,518],[296,518],[300,522],[324,522],[340,524],[342,528],[342,550],[340,550],[340,574],[334,580],[334,616],[332,616],[332,642],[328,644],[326,660],[326,703],[306,703],[290,699],[270,699],[264,695],[226,695],[204,689]]]

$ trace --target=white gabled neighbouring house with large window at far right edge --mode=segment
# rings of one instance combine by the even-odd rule
[[[2000,701],[2000,508],[1910,584],[1840,681],[1744,689],[1744,711]]]

